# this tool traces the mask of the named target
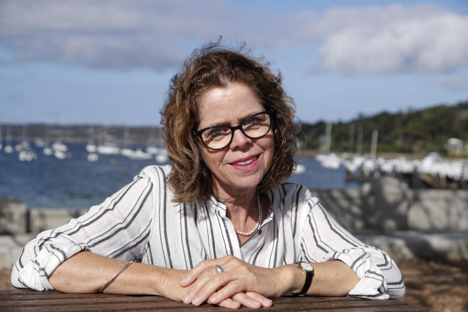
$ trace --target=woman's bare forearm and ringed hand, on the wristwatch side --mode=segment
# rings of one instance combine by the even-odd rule
[[[217,273],[215,265],[220,265],[224,272]],[[315,273],[307,295],[343,296],[359,281],[356,273],[341,261],[314,263],[313,267]],[[202,261],[184,275],[180,285],[190,286],[183,301],[199,305],[205,301],[217,304],[238,292],[255,292],[267,298],[277,298],[300,292],[304,281],[305,273],[297,264],[261,268],[228,255]]]

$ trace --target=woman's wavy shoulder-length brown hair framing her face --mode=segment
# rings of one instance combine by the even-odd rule
[[[160,114],[172,166],[167,182],[176,202],[206,200],[213,193],[211,171],[192,131],[198,126],[201,96],[209,89],[233,82],[250,87],[260,103],[273,111],[273,161],[258,185],[259,192],[276,188],[295,170],[295,135],[299,127],[293,122],[294,102],[281,87],[281,73],[274,75],[264,58],[254,59],[249,52],[243,53],[244,49],[244,45],[227,48],[220,40],[205,44],[194,50],[170,81]]]

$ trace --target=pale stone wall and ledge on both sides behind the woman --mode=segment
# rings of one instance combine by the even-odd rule
[[[311,192],[339,224],[395,259],[468,259],[468,190],[409,190],[399,180],[383,177],[362,189]],[[39,232],[85,212],[27,209],[18,199],[0,198],[0,268],[11,268]]]

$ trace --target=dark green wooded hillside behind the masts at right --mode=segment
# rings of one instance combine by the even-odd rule
[[[349,122],[332,123],[331,151],[356,152],[357,138],[362,131],[362,153],[369,153],[373,129],[378,130],[377,153],[446,154],[444,145],[449,137],[468,144],[468,100],[406,113],[360,115]],[[302,131],[306,137],[305,148],[319,150],[325,139],[326,123],[302,124]]]

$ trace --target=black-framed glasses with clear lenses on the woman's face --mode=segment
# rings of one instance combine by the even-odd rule
[[[203,144],[211,150],[221,150],[231,144],[234,131],[239,129],[244,136],[259,138],[265,136],[272,128],[272,111],[256,113],[247,117],[237,126],[212,126],[194,131],[193,134],[201,139]]]

